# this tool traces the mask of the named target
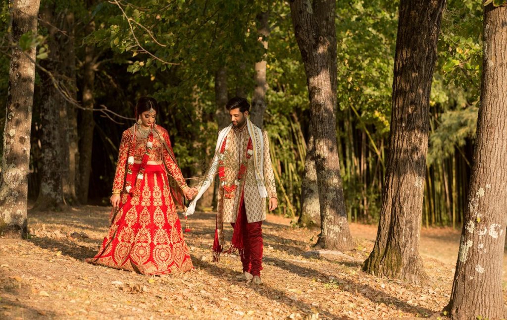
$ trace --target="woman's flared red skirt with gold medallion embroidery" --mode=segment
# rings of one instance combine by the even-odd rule
[[[134,180],[139,166],[132,168]],[[163,165],[146,166],[139,191],[122,195],[99,252],[86,261],[148,275],[192,270]]]

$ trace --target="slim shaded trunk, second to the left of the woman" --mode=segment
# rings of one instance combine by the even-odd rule
[[[67,9],[62,21],[62,30],[67,34],[67,37],[61,37],[61,65],[63,75],[65,76],[64,84],[67,88],[69,96],[74,101],[77,101],[77,84],[76,84],[76,52],[74,49],[74,12]],[[63,143],[62,154],[65,154],[65,172],[62,176],[63,179],[63,195],[69,204],[78,202],[76,195],[77,190],[77,172],[79,172],[79,150],[78,150],[78,113],[74,104],[65,102],[66,108],[61,109],[65,112],[60,113],[62,129],[62,136],[65,137]]]

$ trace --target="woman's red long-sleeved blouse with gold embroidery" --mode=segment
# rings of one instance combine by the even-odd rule
[[[171,174],[176,182],[178,183],[179,188],[183,189],[187,187],[187,183],[182,175],[182,171],[179,169],[178,165],[172,160],[168,151],[164,147],[161,138],[163,138],[168,147],[171,147],[171,140],[169,139],[169,133],[166,129],[161,126],[156,126],[157,131],[161,136],[157,134],[157,132],[153,131],[153,148],[150,152],[149,161],[162,161],[169,174]],[[120,150],[118,154],[118,162],[116,164],[116,174],[115,181],[113,183],[113,190],[123,190],[125,183],[125,170],[127,167],[127,159],[129,154],[129,146],[132,141],[132,134],[134,132],[133,127],[128,128],[123,131],[122,141],[120,143]],[[146,143],[148,139],[146,137],[142,137],[141,134],[136,130],[135,137],[135,146],[134,146],[134,160],[142,160],[142,156],[146,151]]]

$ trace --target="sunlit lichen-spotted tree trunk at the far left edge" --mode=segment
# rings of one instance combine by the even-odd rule
[[[12,3],[12,41],[31,31],[37,34],[40,0]],[[27,233],[28,166],[30,129],[35,85],[36,48],[26,52],[13,47],[0,175],[0,236],[22,237]]]

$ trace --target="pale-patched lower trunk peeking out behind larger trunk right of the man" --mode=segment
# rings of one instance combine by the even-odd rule
[[[305,173],[301,184],[301,215],[298,224],[302,227],[320,226],[320,205],[318,199],[317,171],[315,169],[315,144],[312,126],[308,129]]]

